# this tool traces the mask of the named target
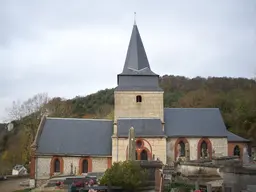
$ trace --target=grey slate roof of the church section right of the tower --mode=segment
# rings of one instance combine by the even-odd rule
[[[217,108],[165,108],[164,121],[168,137],[227,137]]]

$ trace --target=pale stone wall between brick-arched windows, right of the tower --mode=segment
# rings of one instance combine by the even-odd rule
[[[168,163],[175,161],[175,143],[178,138],[167,139],[167,160]],[[201,138],[186,138],[189,143],[190,160],[198,159],[198,142]],[[227,138],[208,138],[212,144],[212,149],[215,151],[215,157],[227,156],[228,146]]]

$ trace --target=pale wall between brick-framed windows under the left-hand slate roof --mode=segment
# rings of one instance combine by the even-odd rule
[[[51,156],[36,158],[36,179],[48,179],[50,177]],[[71,172],[71,163],[73,164],[73,172],[79,174],[79,161],[81,157],[62,157],[63,159],[63,175],[69,175]],[[92,172],[104,172],[109,166],[108,157],[91,157]]]

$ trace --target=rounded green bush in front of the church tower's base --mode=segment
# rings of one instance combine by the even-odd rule
[[[100,179],[100,184],[134,191],[145,184],[147,176],[147,171],[136,161],[118,162],[106,170]]]

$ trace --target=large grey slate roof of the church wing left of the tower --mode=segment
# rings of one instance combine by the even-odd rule
[[[113,121],[46,118],[37,154],[111,156]]]

